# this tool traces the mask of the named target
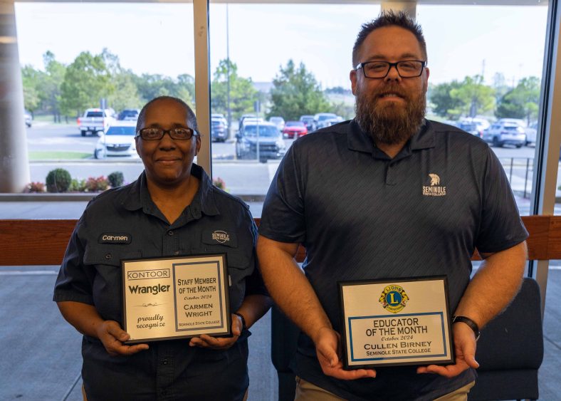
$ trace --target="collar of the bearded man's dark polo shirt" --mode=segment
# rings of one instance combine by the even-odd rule
[[[407,142],[404,149],[421,150],[429,149],[435,146],[435,131],[429,120],[424,120],[424,124],[411,140]],[[347,144],[350,150],[357,152],[366,152],[374,155],[374,141],[372,137],[364,132],[353,118],[347,128]]]

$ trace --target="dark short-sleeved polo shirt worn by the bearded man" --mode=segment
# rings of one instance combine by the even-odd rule
[[[502,251],[528,236],[488,145],[428,120],[393,159],[355,120],[295,141],[271,183],[259,233],[305,246],[303,269],[335,330],[337,281],[446,275],[454,311],[474,249]],[[326,377],[305,336],[295,358],[300,377],[351,400],[432,400],[475,378],[473,370],[451,380],[415,370]]]

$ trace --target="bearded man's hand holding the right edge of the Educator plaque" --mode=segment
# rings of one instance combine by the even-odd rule
[[[417,373],[436,373],[446,377],[454,377],[468,368],[479,368],[476,361],[476,335],[473,330],[464,323],[455,323],[452,325],[452,335],[454,349],[456,350],[456,364],[419,366]]]

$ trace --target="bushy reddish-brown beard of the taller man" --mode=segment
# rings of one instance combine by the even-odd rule
[[[383,93],[396,93],[406,104],[380,102]],[[381,104],[380,104],[381,103]],[[426,109],[426,91],[411,97],[394,85],[387,85],[374,93],[357,92],[355,110],[357,123],[372,135],[374,143],[396,145],[406,142],[423,125]]]

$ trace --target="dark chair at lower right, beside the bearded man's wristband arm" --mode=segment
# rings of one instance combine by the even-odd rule
[[[468,400],[538,399],[543,332],[540,287],[535,280],[525,278],[513,303],[481,330],[476,360],[478,378]]]

